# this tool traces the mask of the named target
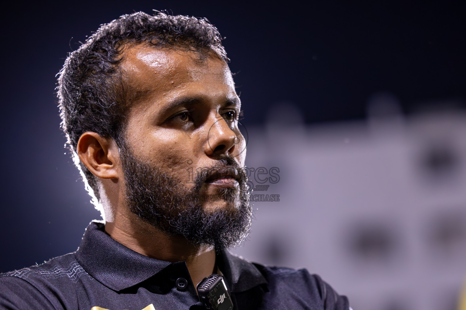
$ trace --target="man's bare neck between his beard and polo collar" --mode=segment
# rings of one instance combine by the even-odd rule
[[[210,247],[192,244],[183,237],[169,236],[132,212],[117,213],[111,220],[105,224],[110,237],[147,257],[172,263],[186,262],[194,286],[215,273],[215,251]]]

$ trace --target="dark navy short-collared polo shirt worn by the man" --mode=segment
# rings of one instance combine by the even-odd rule
[[[348,310],[307,270],[266,267],[225,251],[217,255],[235,310]],[[91,222],[79,249],[45,264],[0,275],[0,309],[205,309],[185,262],[146,257]]]

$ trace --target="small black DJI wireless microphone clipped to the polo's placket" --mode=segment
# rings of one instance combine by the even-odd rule
[[[232,310],[233,302],[226,289],[222,276],[212,274],[204,278],[197,286],[200,300],[207,309]]]

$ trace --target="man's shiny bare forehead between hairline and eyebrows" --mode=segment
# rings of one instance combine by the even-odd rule
[[[120,65],[124,86],[139,95],[156,97],[196,89],[234,92],[232,75],[225,61],[211,54],[199,62],[197,56],[191,51],[132,46],[124,53]]]

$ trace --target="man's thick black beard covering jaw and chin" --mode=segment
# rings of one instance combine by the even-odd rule
[[[187,189],[181,180],[160,167],[141,162],[125,146],[120,149],[124,171],[126,201],[139,218],[172,236],[181,236],[193,244],[213,246],[216,251],[241,243],[251,227],[247,176],[231,157],[219,158],[219,165],[202,171]],[[219,195],[199,195],[212,173],[224,169],[237,171],[240,190],[223,188]],[[206,200],[224,200],[226,207],[205,210]]]

